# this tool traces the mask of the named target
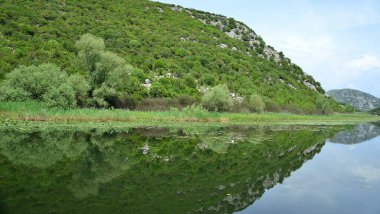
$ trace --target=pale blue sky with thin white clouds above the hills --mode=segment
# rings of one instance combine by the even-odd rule
[[[325,90],[380,97],[379,0],[160,0],[242,21]]]

